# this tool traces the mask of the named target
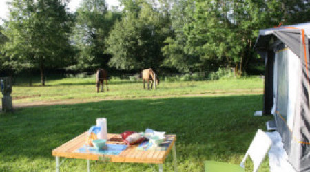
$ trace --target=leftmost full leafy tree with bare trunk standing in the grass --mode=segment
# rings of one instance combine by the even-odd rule
[[[46,68],[63,67],[70,61],[71,25],[72,16],[59,0],[12,0],[6,54],[39,68],[45,85]]]

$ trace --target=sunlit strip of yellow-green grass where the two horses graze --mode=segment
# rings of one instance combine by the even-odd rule
[[[263,80],[258,77],[216,80],[216,81],[187,81],[187,82],[161,82],[158,89],[143,90],[143,83],[130,82],[130,80],[110,80],[109,92],[97,94],[94,78],[63,78],[48,80],[46,87],[34,83],[18,83],[13,87],[12,97],[14,104],[38,101],[59,100],[115,100],[115,99],[141,99],[163,98],[168,96],[193,96],[197,94],[261,94]],[[1,95],[2,96],[2,95]]]

